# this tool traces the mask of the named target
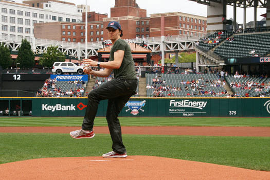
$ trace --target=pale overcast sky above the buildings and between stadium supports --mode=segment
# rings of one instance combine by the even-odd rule
[[[20,0],[16,0],[20,1]],[[63,0],[62,0],[63,1]],[[65,0],[66,2],[75,3],[76,5],[85,4],[85,0]],[[147,10],[147,16],[154,13],[162,12],[184,12],[195,15],[207,16],[207,6],[197,4],[196,2],[188,0],[136,0],[138,6]],[[98,13],[107,13],[110,17],[111,7],[115,6],[115,0],[87,0],[91,11]],[[257,21],[263,17],[261,14],[266,13],[266,8],[258,8]],[[227,19],[233,17],[232,6],[227,6]],[[246,21],[253,21],[253,8],[247,8]],[[243,8],[237,8],[237,22],[243,23]]]

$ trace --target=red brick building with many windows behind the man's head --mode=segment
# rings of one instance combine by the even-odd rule
[[[85,13],[81,23],[39,23],[34,25],[34,37],[68,42],[85,41]],[[147,17],[147,10],[140,9],[136,0],[115,0],[111,17],[96,12],[87,13],[87,42],[107,40],[106,26],[110,21],[120,22],[123,39],[160,37],[206,33],[204,16],[181,12],[156,13]],[[68,28],[69,27],[69,28]],[[75,27],[75,29],[73,29]],[[55,34],[51,34],[55,33]]]

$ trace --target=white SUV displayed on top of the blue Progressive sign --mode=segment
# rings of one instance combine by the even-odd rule
[[[52,73],[61,75],[63,73],[78,73],[79,75],[83,74],[83,66],[77,66],[71,62],[55,62],[52,65]]]

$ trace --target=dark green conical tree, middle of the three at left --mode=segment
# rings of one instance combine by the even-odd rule
[[[34,54],[30,43],[23,39],[19,48],[16,63],[20,63],[21,68],[32,68],[34,66]]]

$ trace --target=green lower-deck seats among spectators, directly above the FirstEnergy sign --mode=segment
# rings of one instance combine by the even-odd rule
[[[155,75],[155,74],[147,74],[146,75],[146,84],[149,85],[154,85],[152,83],[152,80],[159,76],[161,80],[165,80],[165,86],[171,86],[171,87],[181,87],[182,91],[164,91],[165,97],[168,97],[168,94],[174,94],[174,97],[213,97],[213,96],[219,96],[219,97],[226,97],[226,94],[220,94],[221,92],[226,92],[226,89],[223,86],[210,86],[210,83],[206,83],[205,81],[218,81],[218,76],[214,74],[162,74],[162,75]],[[197,95],[199,91],[196,89],[196,91],[192,91],[191,89],[191,84],[181,84],[182,81],[192,81],[192,80],[200,80],[198,85],[202,86],[203,84],[205,85],[204,87],[202,86],[202,89],[207,92],[214,92],[216,95],[212,94],[202,94],[202,95]],[[160,86],[162,84],[156,84],[156,86]],[[185,87],[188,87],[188,90],[185,90]],[[147,89],[147,96],[148,97],[153,97],[153,88]],[[187,94],[191,95],[187,95]],[[196,95],[192,95],[196,94]],[[219,95],[218,95],[219,94]]]

